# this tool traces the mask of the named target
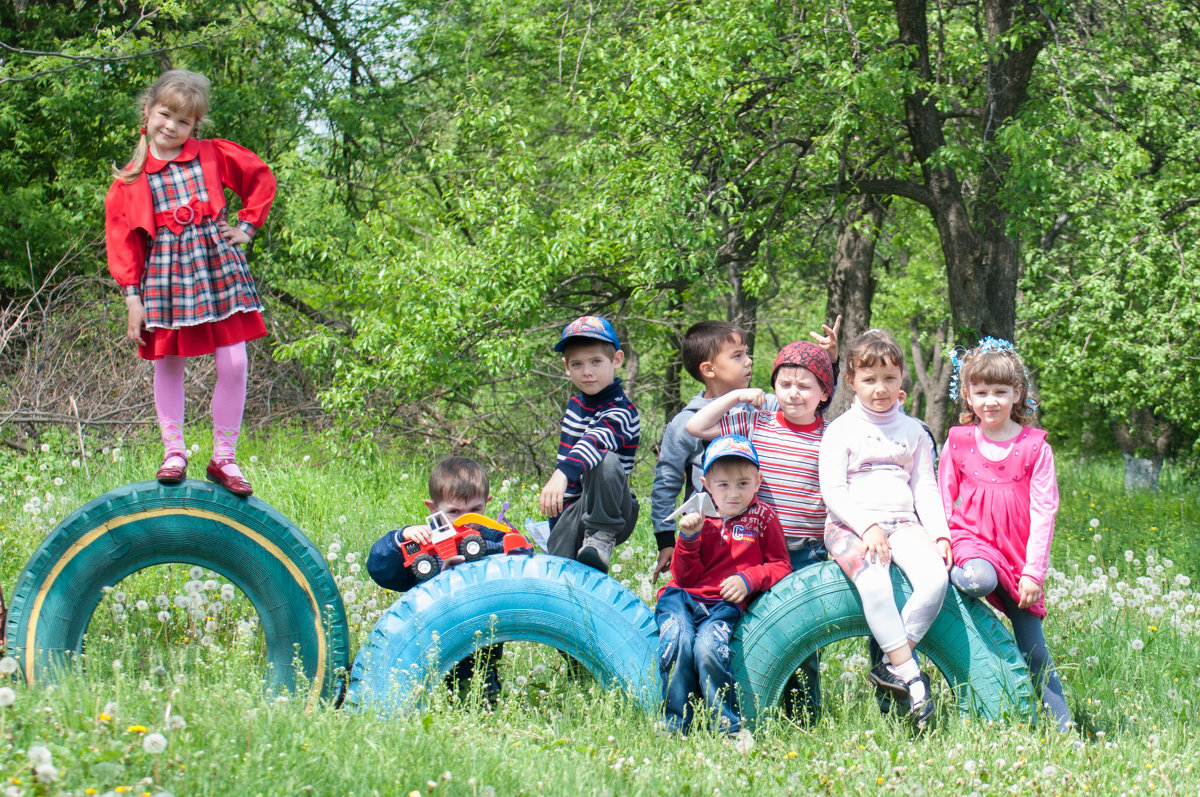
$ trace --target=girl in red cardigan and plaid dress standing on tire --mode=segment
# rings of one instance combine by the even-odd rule
[[[185,358],[212,354],[214,451],[208,478],[239,496],[250,483],[235,451],[246,405],[246,341],[266,335],[250,276],[248,244],[275,199],[275,176],[233,142],[192,134],[209,108],[209,82],[172,70],[142,97],[133,157],[114,169],[104,198],[108,270],[125,290],[126,336],[154,361],[154,396],[166,450],[157,479],[187,474],[184,445]],[[226,220],[224,188],[242,202]]]

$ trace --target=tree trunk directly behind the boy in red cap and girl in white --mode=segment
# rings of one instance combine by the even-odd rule
[[[833,325],[834,319],[841,316],[839,353],[871,326],[871,300],[876,286],[871,265],[887,204],[884,197],[865,194],[853,202],[838,221],[838,245],[826,298],[826,324]],[[842,367],[841,373],[845,372]],[[836,418],[850,407],[853,394],[845,378],[839,382],[838,394],[826,412],[827,418]]]

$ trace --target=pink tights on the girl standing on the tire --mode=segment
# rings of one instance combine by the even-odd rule
[[[246,374],[250,361],[246,343],[218,346],[212,354],[217,365],[217,384],[212,389],[212,459],[233,460],[241,432],[241,414],[246,408]],[[164,465],[182,467],[184,451],[184,358],[164,356],[154,364],[154,402],[158,411],[158,431],[167,450]],[[236,465],[222,468],[240,475]]]

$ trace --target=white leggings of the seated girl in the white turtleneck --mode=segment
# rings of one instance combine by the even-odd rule
[[[839,529],[840,531],[840,529]],[[830,529],[826,529],[827,545]],[[916,645],[925,636],[934,624],[937,612],[946,598],[946,562],[937,547],[920,526],[901,526],[892,532],[888,543],[892,546],[892,563],[900,568],[912,585],[912,595],[905,601],[904,611],[896,607],[892,592],[892,576],[882,564],[870,564],[863,558],[865,546],[860,538],[852,539],[839,534],[833,546],[840,549],[834,558],[842,570],[854,582],[863,599],[863,615],[871,628],[871,635],[884,652],[892,652],[905,646]],[[834,553],[830,550],[830,553]],[[844,561],[845,559],[845,561]],[[848,565],[848,567],[847,567]]]

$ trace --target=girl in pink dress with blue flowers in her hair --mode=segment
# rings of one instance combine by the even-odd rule
[[[1037,402],[1012,343],[988,337],[954,361],[950,396],[961,401],[962,426],[950,430],[938,468],[950,582],[1008,616],[1042,702],[1066,731],[1070,712],[1042,633],[1058,511],[1054,454],[1045,432],[1031,426]]]

